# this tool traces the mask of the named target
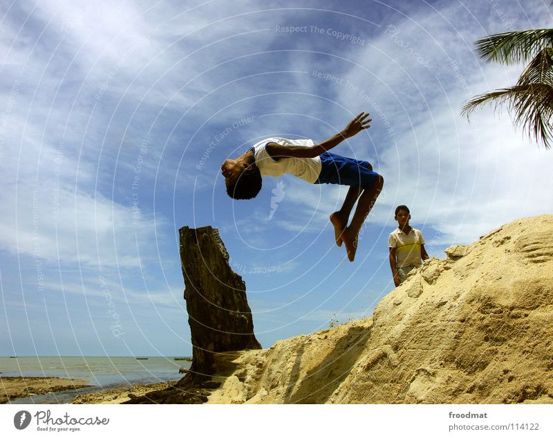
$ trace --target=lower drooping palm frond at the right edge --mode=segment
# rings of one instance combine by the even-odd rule
[[[494,110],[507,103],[514,123],[529,137],[542,141],[546,149],[553,146],[553,86],[549,83],[531,83],[503,88],[473,97],[462,107],[467,118],[476,108],[494,104]]]

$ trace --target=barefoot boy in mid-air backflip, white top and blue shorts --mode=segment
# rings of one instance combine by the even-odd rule
[[[337,246],[344,243],[348,259],[355,259],[359,230],[382,191],[384,179],[373,171],[368,161],[341,157],[328,152],[341,141],[371,128],[368,112],[362,112],[337,135],[321,143],[312,140],[290,140],[280,137],[256,143],[244,155],[227,159],[221,166],[227,193],[233,199],[252,199],[261,190],[262,177],[279,177],[291,173],[312,184],[350,186],[344,205],[330,215]],[[358,201],[357,201],[358,200]],[[357,208],[348,225],[350,213]]]

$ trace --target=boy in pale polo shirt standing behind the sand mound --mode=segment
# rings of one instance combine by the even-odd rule
[[[424,237],[422,232],[409,225],[409,208],[398,206],[395,209],[395,217],[398,226],[388,237],[390,248],[390,268],[392,268],[393,283],[400,286],[407,274],[418,268],[422,260],[428,259],[427,250],[424,249]]]

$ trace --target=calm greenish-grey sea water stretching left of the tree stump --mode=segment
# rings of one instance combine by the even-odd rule
[[[71,403],[77,395],[136,384],[178,380],[179,368],[190,368],[189,361],[176,361],[175,357],[0,357],[2,377],[71,377],[88,381],[93,388],[82,388],[55,394],[15,399],[12,404]]]

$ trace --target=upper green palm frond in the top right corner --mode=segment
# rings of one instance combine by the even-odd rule
[[[513,64],[529,61],[539,50],[551,46],[553,29],[516,30],[479,39],[476,52],[486,61]]]

